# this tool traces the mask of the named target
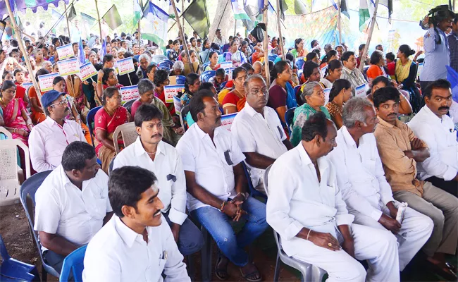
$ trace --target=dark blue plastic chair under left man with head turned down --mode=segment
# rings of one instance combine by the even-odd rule
[[[35,245],[38,250],[38,255],[40,259],[42,259],[42,281],[47,281],[47,274],[51,274],[52,276],[58,277],[58,272],[52,268],[52,266],[48,265],[47,262],[43,258],[42,254],[42,244],[39,243],[38,234],[36,231],[33,230],[33,226],[35,223],[35,192],[40,185],[42,185],[44,178],[51,173],[51,171],[42,171],[39,173],[30,176],[27,180],[24,181],[23,185],[20,186],[20,203],[23,204],[25,216],[27,216],[27,221],[29,221],[30,233],[32,235],[33,240],[35,241]],[[30,197],[27,197],[30,196]],[[30,202],[32,200],[32,202]],[[1,279],[0,279],[1,280]],[[3,281],[3,280],[1,280]]]

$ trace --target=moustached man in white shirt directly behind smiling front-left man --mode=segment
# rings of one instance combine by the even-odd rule
[[[152,104],[143,104],[135,112],[137,141],[121,151],[113,161],[113,169],[140,166],[153,171],[158,178],[163,216],[171,226],[173,238],[182,255],[202,249],[204,238],[186,214],[186,179],[177,150],[162,141],[163,114]]]

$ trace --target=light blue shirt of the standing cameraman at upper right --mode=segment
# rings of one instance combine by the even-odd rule
[[[440,36],[441,43],[435,41]],[[447,68],[450,66],[450,55],[447,36],[445,32],[438,29],[438,33],[431,27],[423,37],[425,49],[425,61],[423,70],[420,73],[421,81],[434,81],[440,78],[447,79]]]

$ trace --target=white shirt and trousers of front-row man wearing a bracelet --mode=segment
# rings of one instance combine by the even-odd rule
[[[268,174],[267,222],[280,234],[286,254],[314,264],[329,274],[328,281],[399,281],[397,242],[389,231],[352,224],[337,185],[335,167],[327,157],[318,160],[321,181],[302,143],[283,154]],[[339,225],[349,225],[355,257],[367,259],[364,267],[344,250],[318,247],[295,237],[302,228],[330,233],[342,243]]]

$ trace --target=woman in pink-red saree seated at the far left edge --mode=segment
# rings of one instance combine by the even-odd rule
[[[15,99],[16,85],[5,80],[1,85],[0,106],[3,111],[4,127],[11,132],[13,139],[21,140],[25,145],[28,144],[32,121],[27,114],[22,99]]]

